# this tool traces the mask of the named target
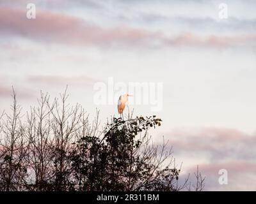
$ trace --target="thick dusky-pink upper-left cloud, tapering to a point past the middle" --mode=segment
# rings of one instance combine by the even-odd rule
[[[0,8],[0,28],[6,33],[65,43],[140,41],[153,36],[128,27],[103,30],[79,18],[48,11],[37,11],[36,19],[28,20],[26,10],[11,8]]]

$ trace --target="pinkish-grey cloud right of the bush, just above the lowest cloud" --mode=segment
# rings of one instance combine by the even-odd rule
[[[204,156],[212,162],[256,157],[255,135],[230,128],[174,129],[164,134],[175,154]]]

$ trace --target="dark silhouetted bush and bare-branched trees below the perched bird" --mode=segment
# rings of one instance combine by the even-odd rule
[[[180,169],[166,144],[155,145],[150,128],[161,125],[155,115],[113,118],[100,129],[99,112],[92,124],[81,105],[49,102],[21,115],[13,91],[12,113],[0,120],[1,191],[179,191]],[[204,179],[196,173],[196,191]]]

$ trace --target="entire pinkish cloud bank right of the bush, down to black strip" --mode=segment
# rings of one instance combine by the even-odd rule
[[[232,128],[180,128],[164,134],[173,147],[173,154],[189,158],[204,158],[186,171],[199,170],[206,177],[207,190],[256,189],[256,136]],[[219,170],[228,171],[229,184],[220,185]],[[249,186],[248,186],[249,185]]]

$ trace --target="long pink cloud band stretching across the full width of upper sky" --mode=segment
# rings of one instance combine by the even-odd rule
[[[76,45],[131,45],[131,46],[192,46],[230,47],[245,45],[256,40],[256,35],[198,36],[181,33],[166,36],[161,32],[134,29],[122,25],[102,29],[80,18],[69,15],[37,11],[36,19],[28,20],[26,10],[0,8],[0,29],[3,34],[18,34],[26,38]]]

